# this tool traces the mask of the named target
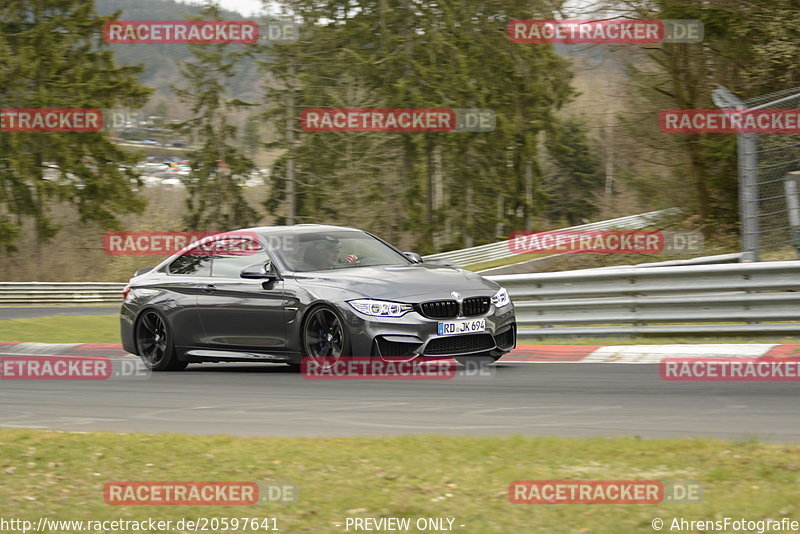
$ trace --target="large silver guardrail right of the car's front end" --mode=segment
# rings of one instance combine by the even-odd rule
[[[487,277],[533,336],[800,332],[800,261]]]

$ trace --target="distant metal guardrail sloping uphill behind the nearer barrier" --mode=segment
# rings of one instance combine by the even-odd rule
[[[568,228],[559,228],[558,230],[551,231],[572,231],[572,230],[639,230],[668,219],[670,217],[679,215],[683,210],[681,208],[669,208],[659,211],[650,211],[647,213],[640,213],[638,215],[629,215],[627,217],[618,217],[616,219],[608,219],[605,221],[598,221],[589,224],[581,224],[579,226],[570,226]],[[487,245],[479,245],[477,247],[462,248],[459,250],[451,250],[449,252],[439,252],[437,254],[428,254],[422,258],[425,261],[440,261],[451,263],[456,267],[465,267],[467,265],[474,265],[476,263],[483,263],[486,261],[494,261],[503,258],[509,258],[515,254],[511,252],[508,241],[498,241],[497,243],[489,243]]]

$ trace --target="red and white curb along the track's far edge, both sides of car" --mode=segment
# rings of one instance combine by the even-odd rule
[[[122,345],[86,343],[11,343],[0,341],[0,355],[134,357]],[[675,345],[519,345],[501,363],[658,363],[666,358],[800,358],[800,344]]]

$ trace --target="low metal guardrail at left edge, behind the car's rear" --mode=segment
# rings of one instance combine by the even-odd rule
[[[0,305],[121,304],[124,287],[116,282],[0,282]]]

